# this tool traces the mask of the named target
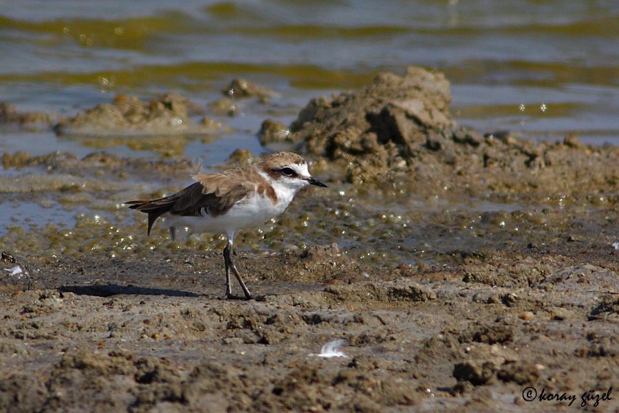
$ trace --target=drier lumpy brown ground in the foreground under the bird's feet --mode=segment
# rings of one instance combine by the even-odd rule
[[[345,273],[359,268],[334,246],[305,257],[241,253],[254,301],[221,298],[212,253],[47,268],[48,288],[3,288],[0,406],[567,410],[524,401],[523,390],[601,395],[619,371],[616,253],[579,253],[588,240],[578,243],[571,254],[497,253],[350,283]],[[291,268],[338,267],[341,279],[291,281]],[[334,339],[346,341],[346,357],[318,357]],[[587,410],[613,411],[618,400]]]

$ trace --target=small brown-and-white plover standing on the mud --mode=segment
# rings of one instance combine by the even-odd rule
[[[230,270],[241,284],[245,298],[252,298],[232,262],[237,231],[261,225],[283,213],[294,195],[310,184],[327,187],[312,178],[305,159],[292,152],[272,153],[257,165],[219,173],[199,173],[193,178],[197,182],[173,195],[125,204],[149,214],[148,235],[159,217],[166,219],[173,240],[177,227],[189,227],[196,233],[225,233],[228,237],[224,248],[228,298],[237,298],[232,295]]]

